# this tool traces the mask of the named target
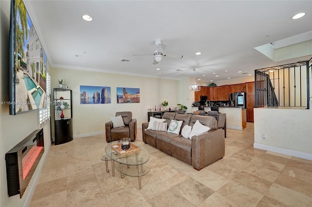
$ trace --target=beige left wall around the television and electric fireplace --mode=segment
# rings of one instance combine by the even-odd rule
[[[9,101],[9,0],[0,1],[0,103]],[[11,150],[22,139],[36,129],[39,129],[39,111],[27,112],[16,116],[9,115],[9,105],[0,104],[0,206],[21,207],[27,206],[39,179],[39,173],[50,147],[50,122],[43,127],[45,152],[38,168],[31,179],[23,197],[20,195],[8,197],[6,183],[5,153]]]

